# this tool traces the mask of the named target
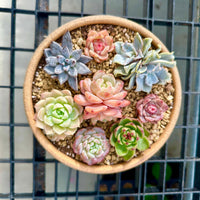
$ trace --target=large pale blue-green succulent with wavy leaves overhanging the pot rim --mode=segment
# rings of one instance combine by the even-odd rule
[[[171,80],[171,74],[164,67],[176,66],[174,53],[160,53],[161,46],[154,50],[151,43],[151,38],[142,39],[139,33],[136,33],[133,43],[115,43],[117,54],[113,62],[120,66],[114,70],[114,75],[129,80],[127,90],[136,83],[136,91],[149,93],[153,84],[165,84]]]

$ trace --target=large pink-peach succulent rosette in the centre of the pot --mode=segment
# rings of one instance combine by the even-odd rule
[[[124,98],[124,82],[116,80],[112,74],[97,71],[93,80],[86,78],[80,81],[82,95],[75,95],[74,101],[85,106],[84,119],[91,119],[95,124],[99,121],[111,121],[122,117],[121,107],[128,106],[130,101]]]

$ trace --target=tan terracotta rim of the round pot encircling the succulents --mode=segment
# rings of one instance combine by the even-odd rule
[[[136,167],[140,165],[141,163],[145,162],[147,159],[149,159],[151,156],[153,156],[167,141],[169,136],[171,135],[173,128],[176,124],[176,121],[178,119],[180,106],[181,106],[181,83],[180,83],[180,77],[177,68],[172,68],[172,79],[173,84],[175,87],[175,98],[174,98],[174,107],[172,109],[170,122],[166,126],[164,132],[159,137],[158,141],[155,142],[151,148],[145,150],[140,154],[140,156],[132,159],[129,162],[124,162],[116,165],[111,166],[88,166],[82,162],[76,161],[72,159],[71,157],[68,157],[67,155],[60,152],[42,133],[42,131],[35,126],[34,121],[34,109],[33,109],[33,102],[32,102],[32,82],[34,78],[34,74],[36,71],[36,68],[38,66],[38,63],[43,55],[43,50],[47,48],[52,41],[57,40],[60,38],[67,30],[71,31],[78,27],[90,25],[90,24],[113,24],[113,25],[119,25],[125,28],[129,28],[133,31],[139,32],[143,37],[150,37],[153,39],[153,45],[157,46],[156,44],[161,44],[162,51],[166,52],[168,51],[165,45],[150,31],[148,31],[143,26],[123,19],[119,17],[114,16],[91,16],[91,17],[83,17],[79,18],[77,20],[73,20],[60,28],[56,29],[53,33],[51,33],[36,49],[29,67],[27,69],[25,82],[24,82],[24,106],[25,111],[28,117],[29,124],[33,130],[33,133],[37,140],[40,142],[40,144],[57,160],[62,162],[65,165],[68,165],[69,167],[72,167],[77,170],[81,170],[88,173],[96,173],[96,174],[110,174],[110,173],[116,173],[125,171],[128,169],[131,169],[133,167]]]

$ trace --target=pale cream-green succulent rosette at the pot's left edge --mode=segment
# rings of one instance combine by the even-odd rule
[[[42,93],[35,110],[36,126],[52,141],[73,135],[82,122],[83,108],[74,102],[69,90]]]

